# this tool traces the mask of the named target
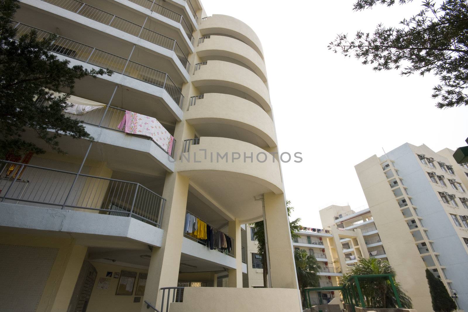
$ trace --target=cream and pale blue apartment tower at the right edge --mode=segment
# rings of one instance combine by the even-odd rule
[[[426,268],[468,310],[468,166],[452,153],[405,143],[355,167],[382,248],[418,311],[432,311]]]

